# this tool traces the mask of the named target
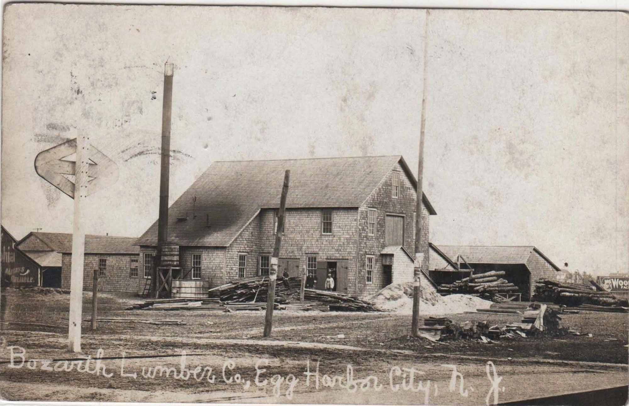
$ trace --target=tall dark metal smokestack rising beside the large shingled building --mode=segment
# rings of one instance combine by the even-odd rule
[[[172,76],[174,65],[164,65],[164,104],[162,105],[162,165],[159,184],[159,220],[157,222],[157,263],[168,241],[168,190],[170,178],[170,114],[172,112]],[[153,266],[152,292],[157,295],[157,265]]]

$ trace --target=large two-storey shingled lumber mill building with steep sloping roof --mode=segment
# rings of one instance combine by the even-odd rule
[[[411,280],[416,180],[402,156],[214,162],[169,208],[182,275],[220,285],[266,275],[284,171],[291,170],[279,272],[303,268],[323,287],[366,295]],[[436,214],[423,196],[423,226]],[[146,277],[157,221],[136,241]],[[422,248],[428,265],[428,244]]]

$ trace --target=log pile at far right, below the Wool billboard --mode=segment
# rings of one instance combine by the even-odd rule
[[[583,304],[597,306],[622,306],[626,305],[626,300],[619,300],[610,292],[593,280],[590,285],[582,283],[558,282],[550,279],[540,279],[535,285],[533,300],[540,302],[552,302],[571,307]]]

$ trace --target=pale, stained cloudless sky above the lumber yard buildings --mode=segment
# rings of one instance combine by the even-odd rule
[[[535,245],[604,275],[629,263],[626,14],[13,4],[5,11],[1,221],[72,232],[35,156],[90,135],[118,165],[90,234],[157,219],[164,62],[170,202],[217,160],[403,155],[435,244]],[[426,32],[426,35],[425,35]],[[423,87],[426,48],[426,87]]]

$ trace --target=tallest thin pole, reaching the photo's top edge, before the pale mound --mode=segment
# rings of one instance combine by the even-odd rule
[[[430,10],[426,9],[426,19],[424,23],[424,74],[423,74],[423,96],[421,98],[421,129],[420,129],[420,151],[417,165],[417,198],[415,207],[415,269],[413,270],[413,322],[411,328],[413,337],[418,337],[418,327],[420,326],[420,299],[421,299],[421,263],[423,262],[424,241],[421,239],[421,209],[423,208],[423,171],[424,171],[424,138],[426,133],[426,65],[428,64],[428,16]]]

